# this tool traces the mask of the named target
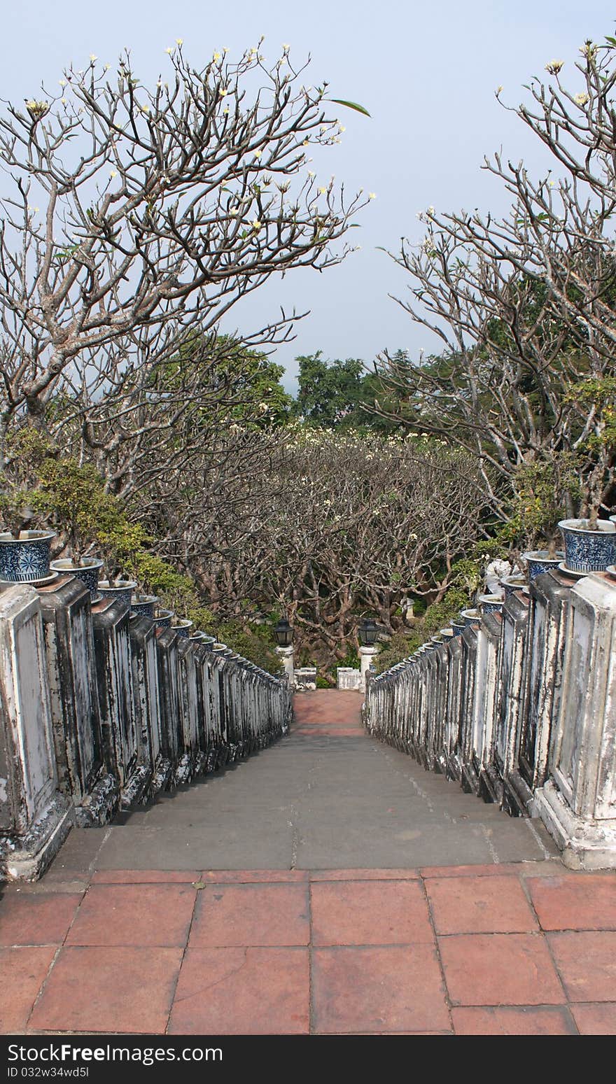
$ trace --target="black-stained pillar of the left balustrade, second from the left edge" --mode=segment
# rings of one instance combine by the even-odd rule
[[[80,827],[114,816],[118,782],[103,759],[90,592],[61,577],[39,591],[60,789]]]

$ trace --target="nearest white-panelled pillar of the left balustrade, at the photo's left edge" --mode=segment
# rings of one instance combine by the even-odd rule
[[[0,593],[0,872],[35,880],[73,824],[57,789],[43,627],[37,591]]]

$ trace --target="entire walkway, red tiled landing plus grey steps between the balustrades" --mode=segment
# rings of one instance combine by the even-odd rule
[[[3,1032],[616,1033],[616,875],[296,697],[277,746],[0,901]]]

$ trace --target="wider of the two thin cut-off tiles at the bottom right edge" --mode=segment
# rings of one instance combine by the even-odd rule
[[[576,1035],[565,1006],[516,1005],[451,1009],[457,1035]]]

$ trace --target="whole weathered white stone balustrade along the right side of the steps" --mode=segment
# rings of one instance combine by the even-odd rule
[[[367,678],[370,734],[616,867],[616,582],[544,573],[461,636]]]

